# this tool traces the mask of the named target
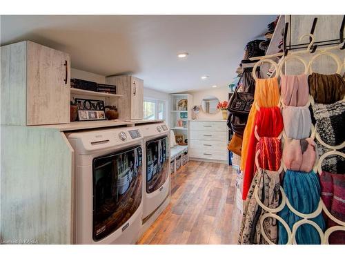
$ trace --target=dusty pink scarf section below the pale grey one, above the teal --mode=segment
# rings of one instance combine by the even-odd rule
[[[286,139],[283,149],[283,162],[287,169],[310,172],[316,160],[316,144],[312,138]]]

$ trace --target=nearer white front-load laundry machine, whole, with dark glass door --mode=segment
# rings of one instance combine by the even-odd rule
[[[142,218],[138,128],[66,134],[75,151],[76,244],[133,244]]]

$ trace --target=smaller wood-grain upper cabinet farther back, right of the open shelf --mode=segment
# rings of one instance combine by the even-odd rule
[[[118,99],[119,119],[143,119],[144,81],[130,75],[106,77],[107,84],[115,84],[117,93],[124,95]]]

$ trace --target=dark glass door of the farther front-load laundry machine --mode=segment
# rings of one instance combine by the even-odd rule
[[[146,193],[159,189],[169,174],[168,137],[146,142]]]

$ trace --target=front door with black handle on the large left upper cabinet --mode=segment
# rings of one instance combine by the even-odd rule
[[[27,125],[70,122],[70,56],[28,41]]]

